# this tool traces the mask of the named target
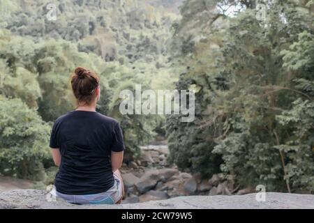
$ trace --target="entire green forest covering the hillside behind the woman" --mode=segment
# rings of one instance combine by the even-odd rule
[[[49,16],[52,3],[55,20]],[[54,121],[76,66],[100,76],[125,162],[168,161],[241,187],[314,194],[314,0],[0,0],[0,175],[54,180]],[[195,92],[195,119],[119,112],[124,89]]]

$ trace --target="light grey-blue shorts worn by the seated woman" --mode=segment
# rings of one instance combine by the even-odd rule
[[[99,194],[62,194],[57,192],[56,187],[52,189],[50,194],[56,196],[57,198],[64,199],[68,203],[77,203],[77,204],[114,204],[117,203],[122,197],[122,185],[121,180],[115,174],[114,175],[114,185],[107,190],[106,192]]]

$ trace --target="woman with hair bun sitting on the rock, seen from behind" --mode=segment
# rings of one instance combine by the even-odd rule
[[[119,123],[96,112],[99,77],[75,69],[71,85],[77,109],[54,123],[50,147],[59,171],[52,194],[70,203],[121,203],[124,185],[119,172],[124,139]]]

